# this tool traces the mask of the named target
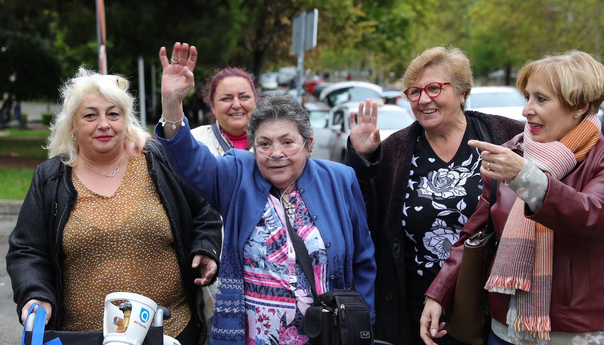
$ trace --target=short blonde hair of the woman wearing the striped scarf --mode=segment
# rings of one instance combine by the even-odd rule
[[[541,60],[530,61],[518,71],[516,86],[520,93],[533,75],[545,79],[550,91],[568,110],[583,109],[595,114],[604,100],[604,66],[593,55],[573,49],[548,53]]]

